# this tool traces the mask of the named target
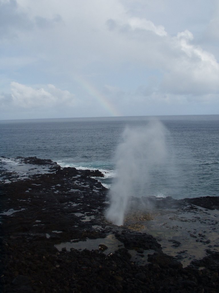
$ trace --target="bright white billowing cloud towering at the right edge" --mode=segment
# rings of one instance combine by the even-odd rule
[[[214,55],[192,45],[193,35],[188,30],[172,38],[175,50],[161,82],[161,90],[174,94],[209,94],[219,92],[219,64]]]

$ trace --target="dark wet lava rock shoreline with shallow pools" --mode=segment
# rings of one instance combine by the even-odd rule
[[[109,203],[107,189],[93,178],[103,176],[98,170],[19,157],[18,174],[13,166],[8,171],[7,160],[0,162],[0,292],[218,292],[219,241],[208,237],[218,229],[218,197],[150,199],[157,210],[175,209],[172,221],[186,211],[193,223],[198,217],[198,224],[206,222],[206,231],[190,232],[204,257],[183,267],[180,258],[164,253],[160,236],[145,232],[153,217],[132,217],[119,227],[105,220]],[[213,219],[203,219],[203,212]],[[172,238],[171,250],[183,255],[180,241]]]

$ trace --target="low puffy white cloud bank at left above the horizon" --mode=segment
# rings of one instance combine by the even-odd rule
[[[62,91],[52,84],[44,88],[32,88],[11,82],[11,94],[1,94],[0,102],[2,106],[11,106],[23,109],[46,109],[55,107],[73,106],[74,95],[69,91]]]

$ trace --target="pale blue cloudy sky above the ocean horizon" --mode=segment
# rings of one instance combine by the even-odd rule
[[[219,114],[218,0],[0,0],[0,120]]]

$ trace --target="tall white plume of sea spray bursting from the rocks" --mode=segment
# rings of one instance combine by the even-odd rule
[[[110,207],[106,219],[121,226],[132,196],[148,194],[151,177],[160,176],[167,159],[167,130],[159,121],[146,127],[126,128],[116,150],[116,178],[109,191]]]

